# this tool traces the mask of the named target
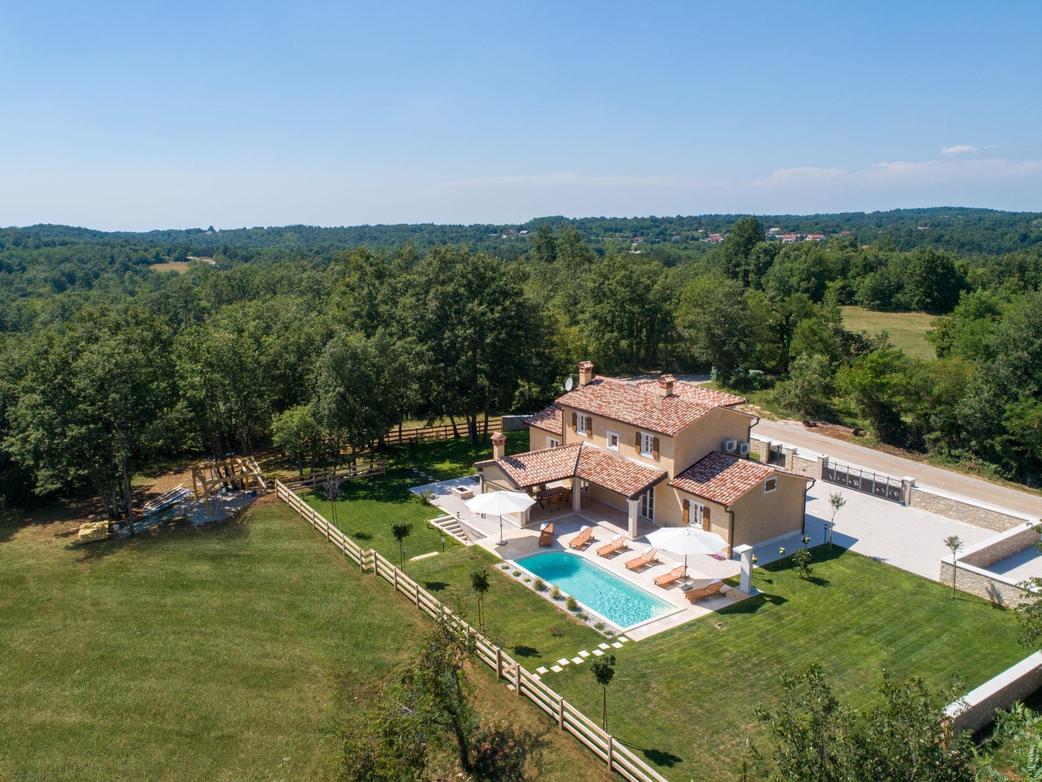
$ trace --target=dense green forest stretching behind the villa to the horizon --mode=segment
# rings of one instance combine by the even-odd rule
[[[274,440],[314,459],[449,416],[476,437],[584,358],[713,367],[793,415],[853,411],[879,440],[1034,484],[1040,286],[1042,216],[987,210],[2,229],[0,496],[93,491],[119,517],[165,455]],[[932,313],[937,358],[851,333],[850,303]]]

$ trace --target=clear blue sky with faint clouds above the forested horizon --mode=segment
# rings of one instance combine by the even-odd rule
[[[0,225],[1042,210],[1042,4],[854,5],[0,2]]]

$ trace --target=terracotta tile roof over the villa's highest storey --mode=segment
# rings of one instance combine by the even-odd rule
[[[586,413],[612,418],[667,437],[678,434],[717,408],[740,405],[745,399],[713,391],[694,383],[673,384],[673,395],[659,394],[659,382],[627,383],[597,377],[557,399]]]

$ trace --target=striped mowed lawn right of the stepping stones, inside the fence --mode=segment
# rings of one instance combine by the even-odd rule
[[[949,587],[835,548],[814,549],[817,583],[784,564],[755,571],[764,594],[617,650],[609,730],[670,779],[734,780],[746,737],[762,742],[756,704],[777,705],[784,674],[820,661],[836,694],[876,703],[882,670],[965,690],[1029,653],[1013,613]],[[588,673],[552,686],[587,713],[600,708]]]

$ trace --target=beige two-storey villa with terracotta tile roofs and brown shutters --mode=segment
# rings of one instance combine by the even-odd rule
[[[800,533],[814,481],[749,458],[759,419],[736,410],[741,396],[662,375],[595,377],[526,419],[531,450],[476,462],[481,492],[526,491],[565,498],[575,512],[603,504],[623,511],[630,538],[644,529],[699,527],[735,546]],[[525,515],[521,523],[529,521]]]

